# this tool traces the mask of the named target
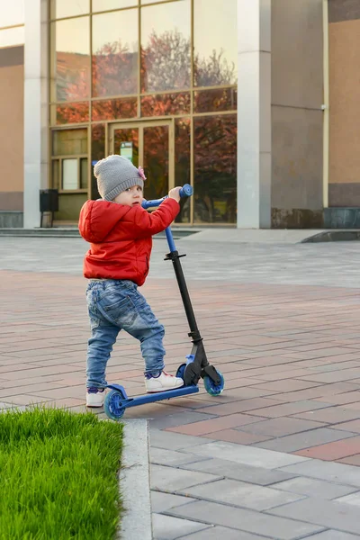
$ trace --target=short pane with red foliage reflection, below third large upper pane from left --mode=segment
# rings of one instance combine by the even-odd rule
[[[166,116],[190,112],[190,93],[144,95],[141,97],[141,116]]]

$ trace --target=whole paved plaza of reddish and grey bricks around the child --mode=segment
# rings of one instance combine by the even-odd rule
[[[0,239],[0,247],[8,239]],[[15,246],[23,246],[23,264],[18,251],[19,262],[7,258],[7,269],[0,270],[0,407],[44,402],[83,410],[85,280],[79,268],[62,271],[71,249],[81,265],[82,247],[67,250],[54,240],[50,271],[38,273],[27,270],[35,259],[40,267],[39,251],[31,259],[29,240],[14,241],[23,242]],[[188,239],[181,240],[182,250],[188,252],[190,242],[200,250]],[[349,248],[347,258],[344,247],[338,257],[334,245],[329,252],[316,244],[306,248],[316,278],[298,265],[293,284],[290,274],[286,284],[278,283],[286,259],[267,274],[275,283],[257,276],[258,283],[241,283],[241,268],[224,275],[223,262],[215,280],[219,267],[210,244],[194,268],[188,285],[195,313],[225,391],[214,398],[202,389],[191,399],[126,412],[127,419],[150,419],[157,540],[360,538],[360,296],[345,286],[356,283],[360,246]],[[233,247],[222,246],[221,253],[227,249],[230,257]],[[264,257],[275,261],[277,248],[266,249]],[[343,264],[339,286],[333,269],[321,266],[324,253],[333,267]],[[206,264],[201,273],[205,259],[213,261],[211,278]],[[41,260],[49,269],[48,259]],[[191,266],[186,261],[187,274]],[[187,326],[174,280],[168,270],[157,271],[160,263],[154,267],[143,292],[166,326],[166,369],[174,373],[189,352]],[[322,274],[328,275],[325,286],[316,284]],[[138,395],[142,369],[138,344],[123,334],[109,382],[121,380]]]

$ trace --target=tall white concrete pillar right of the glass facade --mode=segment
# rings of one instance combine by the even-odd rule
[[[271,227],[271,0],[238,0],[238,229]]]

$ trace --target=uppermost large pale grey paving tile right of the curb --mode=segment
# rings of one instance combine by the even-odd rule
[[[273,452],[255,446],[235,445],[234,443],[224,443],[213,441],[207,445],[193,446],[187,448],[185,452],[208,457],[218,457],[238,464],[247,464],[265,469],[276,469],[290,464],[298,464],[308,461],[309,458],[301,455],[288,455],[281,452]]]

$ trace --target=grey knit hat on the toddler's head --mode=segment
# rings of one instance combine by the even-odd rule
[[[133,166],[127,157],[108,156],[94,166],[97,189],[105,201],[113,201],[117,195],[133,185],[144,188],[146,180],[141,167]]]

